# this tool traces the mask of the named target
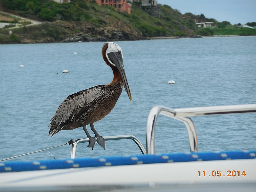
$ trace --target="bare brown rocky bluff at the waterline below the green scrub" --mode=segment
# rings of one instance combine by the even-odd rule
[[[47,23],[44,23],[47,25]],[[44,25],[43,24],[43,25]],[[52,25],[52,23],[48,23]],[[95,41],[132,41],[132,40],[145,40],[139,31],[132,28],[116,24],[117,26],[109,27],[95,27],[90,25],[76,25],[75,23],[56,22],[55,26],[65,30],[65,35],[60,35],[59,39],[54,36],[45,37],[40,35],[37,38],[30,38],[30,36],[23,36],[20,38],[20,43],[68,43],[68,42],[95,42]],[[120,26],[119,26],[120,25]],[[76,33],[74,33],[76,29]],[[42,30],[41,30],[42,31]],[[38,30],[40,33],[40,30]]]

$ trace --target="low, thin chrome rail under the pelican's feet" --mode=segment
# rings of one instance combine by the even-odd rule
[[[137,137],[133,136],[133,135],[113,135],[113,136],[105,136],[103,137],[106,141],[108,140],[123,140],[123,139],[131,139],[133,140],[137,145],[138,147],[140,148],[140,151],[143,155],[146,154],[146,150],[145,148],[143,147],[143,145],[141,144],[141,142],[138,140]],[[97,141],[97,138],[95,137],[96,141]],[[73,142],[72,144],[72,148],[71,148],[71,156],[70,158],[71,159],[75,159],[76,157],[76,147],[79,143],[86,143],[86,142],[89,142],[90,139],[89,138],[84,138],[84,139],[77,139]]]

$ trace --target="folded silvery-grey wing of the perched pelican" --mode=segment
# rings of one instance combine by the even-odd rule
[[[74,117],[79,118],[87,108],[90,108],[102,97],[101,94],[102,87],[98,85],[69,95],[60,104],[55,115],[52,117],[49,125],[51,126],[49,135],[54,131],[55,133],[59,132],[61,128],[72,121]]]

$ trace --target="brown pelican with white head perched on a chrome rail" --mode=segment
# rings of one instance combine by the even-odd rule
[[[99,121],[115,107],[122,88],[127,92],[130,101],[132,95],[124,71],[123,53],[121,47],[113,42],[103,44],[102,56],[107,65],[113,70],[114,78],[107,85],[98,85],[69,95],[58,107],[49,124],[49,135],[61,130],[72,130],[83,127],[86,136],[90,139],[87,147],[94,147],[97,143],[105,150],[105,140],[94,129],[93,123]],[[90,124],[95,137],[86,129]],[[86,147],[86,148],[87,148]]]

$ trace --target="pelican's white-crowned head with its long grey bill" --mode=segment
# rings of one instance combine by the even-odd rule
[[[124,63],[123,63],[123,52],[121,47],[113,42],[108,42],[103,45],[102,49],[103,58],[106,57],[108,61],[108,65],[113,69],[116,68],[120,76],[122,78],[122,82],[124,84],[124,89],[128,94],[130,101],[132,101],[132,95],[130,92],[130,88],[127,82],[125,70],[124,70]],[[105,55],[104,55],[105,54]]]

